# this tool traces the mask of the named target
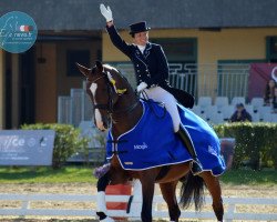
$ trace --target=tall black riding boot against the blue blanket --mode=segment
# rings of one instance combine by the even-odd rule
[[[192,162],[192,165],[191,165],[192,173],[194,175],[199,174],[203,171],[203,168],[202,168],[202,164],[201,164],[201,162],[199,162],[199,160],[197,158],[197,154],[196,154],[194,145],[193,145],[193,141],[192,141],[188,132],[186,131],[186,129],[182,124],[179,124],[179,130],[176,133],[178,134],[182,142],[186,147],[188,153],[193,158],[193,162]]]

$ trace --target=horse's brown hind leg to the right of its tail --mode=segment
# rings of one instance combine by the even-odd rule
[[[222,200],[222,188],[218,178],[211,172],[205,172],[201,175],[213,198],[213,209],[218,221],[223,221],[224,208]]]

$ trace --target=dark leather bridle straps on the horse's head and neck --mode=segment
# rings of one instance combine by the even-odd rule
[[[109,115],[113,115],[113,114],[117,114],[117,113],[126,113],[126,112],[133,111],[136,108],[136,105],[138,104],[138,102],[140,102],[138,100],[135,103],[133,103],[132,105],[130,105],[130,107],[127,107],[125,109],[114,110],[114,104],[115,103],[114,103],[114,100],[113,100],[113,92],[114,93],[116,93],[116,92],[114,91],[112,83],[107,79],[107,74],[105,73],[105,71],[103,71],[102,74],[103,75],[96,78],[93,81],[90,81],[86,78],[86,82],[90,82],[91,84],[92,83],[96,83],[102,78],[105,78],[105,83],[107,85],[107,103],[106,104],[103,104],[103,103],[93,104],[93,110],[95,110],[95,109],[106,110],[106,112],[107,112]],[[125,94],[126,92],[124,92],[122,94]],[[120,97],[122,94],[117,94],[117,95]]]

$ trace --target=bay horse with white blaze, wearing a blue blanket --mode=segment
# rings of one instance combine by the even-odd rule
[[[113,67],[102,64],[100,61],[96,61],[91,69],[79,63],[76,65],[86,78],[86,92],[93,103],[95,125],[99,130],[105,131],[111,123],[110,130],[114,141],[116,141],[121,134],[133,129],[143,114],[143,107],[137,94],[127,80]],[[223,221],[224,208],[220,184],[218,178],[213,175],[211,171],[203,171],[199,175],[194,176],[189,171],[189,161],[147,170],[124,170],[116,152],[111,159],[109,171],[98,182],[96,214],[100,221],[113,221],[106,215],[104,199],[106,185],[125,183],[131,179],[138,179],[142,184],[141,219],[143,222],[152,221],[155,183],[160,184],[168,208],[170,220],[178,221],[181,210],[175,194],[178,182],[182,182],[181,206],[187,208],[194,200],[195,209],[199,210],[203,204],[205,184],[213,198],[213,210],[217,221]]]

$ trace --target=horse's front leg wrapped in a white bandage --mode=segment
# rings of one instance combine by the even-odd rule
[[[114,220],[106,215],[105,205],[105,189],[111,181],[109,172],[106,172],[98,181],[98,195],[96,195],[96,214],[101,222],[113,222]]]

